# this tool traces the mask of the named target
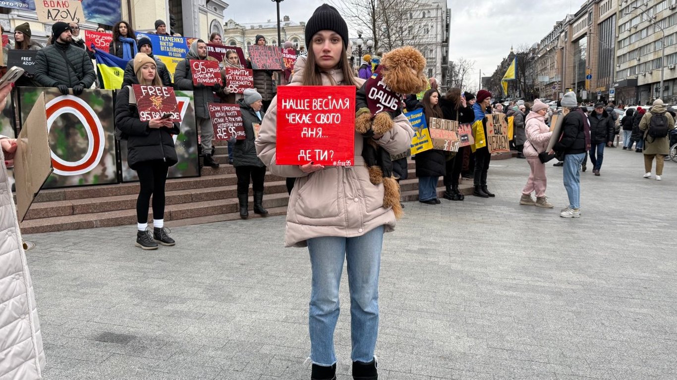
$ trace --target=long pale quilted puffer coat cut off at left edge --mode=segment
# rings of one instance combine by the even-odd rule
[[[4,161],[0,151],[0,379],[34,380],[45,352]]]

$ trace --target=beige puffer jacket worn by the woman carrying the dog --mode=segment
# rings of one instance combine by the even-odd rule
[[[300,86],[305,68],[305,57],[299,57],[289,86]],[[332,70],[336,83],[343,82],[343,74]],[[330,85],[328,76],[323,76],[324,85]],[[357,84],[364,80],[356,78]],[[355,89],[357,91],[357,89]],[[274,174],[298,177],[289,198],[284,244],[287,247],[305,247],[306,240],[320,236],[355,237],[385,225],[385,231],[395,229],[395,214],[391,208],[383,208],[383,184],[373,185],[362,158],[363,137],[355,133],[355,166],[326,166],[324,170],[306,174],[299,166],[275,164],[277,130],[277,96],[261,122],[261,131],[256,140],[259,158]],[[403,115],[395,118],[395,126],[378,145],[396,154],[410,147],[414,129]]]

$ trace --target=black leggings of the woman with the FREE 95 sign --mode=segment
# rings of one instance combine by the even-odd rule
[[[165,218],[165,182],[167,182],[167,163],[161,160],[140,162],[136,165],[141,190],[136,199],[136,220],[148,222],[150,195],[153,196],[153,218]]]

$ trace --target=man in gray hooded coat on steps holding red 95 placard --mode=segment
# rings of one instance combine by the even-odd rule
[[[174,72],[174,89],[183,91],[193,91],[195,101],[195,116],[198,128],[200,128],[200,145],[202,145],[202,153],[204,154],[204,166],[211,166],[218,168],[217,164],[212,158],[212,139],[214,138],[214,128],[209,118],[209,108],[207,103],[213,103],[214,93],[221,89],[217,83],[213,86],[205,86],[202,84],[193,85],[193,74],[190,71],[190,60],[213,60],[213,57],[207,57],[207,45],[202,40],[196,40],[190,44],[190,51],[185,56],[185,60],[176,65]]]

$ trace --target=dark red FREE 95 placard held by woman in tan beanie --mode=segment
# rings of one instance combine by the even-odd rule
[[[181,122],[181,112],[171,87],[132,85],[136,108],[142,122],[171,114],[169,120]]]

